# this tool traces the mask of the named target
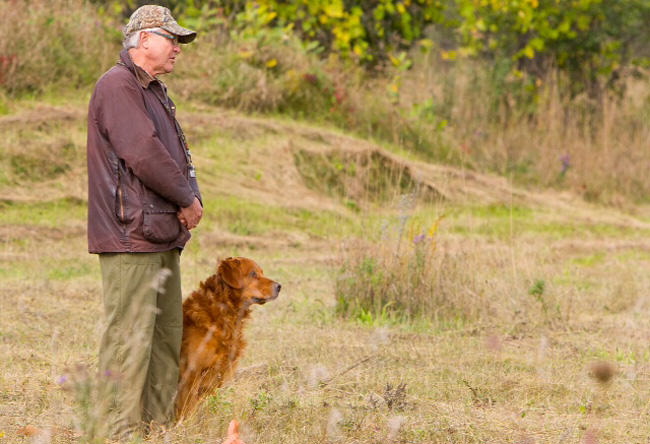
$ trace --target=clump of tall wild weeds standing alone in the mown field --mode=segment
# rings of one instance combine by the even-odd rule
[[[363,322],[463,320],[484,312],[469,255],[439,245],[441,220],[423,229],[402,218],[396,233],[386,228],[379,239],[348,245],[337,272],[337,312]]]

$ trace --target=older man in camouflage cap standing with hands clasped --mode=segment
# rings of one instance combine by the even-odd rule
[[[108,432],[168,424],[182,339],[180,251],[202,216],[176,107],[158,76],[196,32],[146,5],[124,28],[116,66],[88,110],[88,248],[99,254],[106,329],[100,372],[113,387]]]

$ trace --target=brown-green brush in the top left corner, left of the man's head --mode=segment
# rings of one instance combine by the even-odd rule
[[[0,0],[0,88],[85,87],[116,60],[121,33],[82,0]]]

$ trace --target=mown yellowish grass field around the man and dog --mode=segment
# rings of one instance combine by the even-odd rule
[[[86,101],[0,117],[0,443],[85,442],[98,421]],[[184,293],[234,255],[283,290],[255,309],[235,379],[146,442],[218,443],[233,417],[248,444],[650,442],[648,208],[515,189],[283,119],[195,105],[180,120],[206,202]],[[337,316],[359,245],[408,249],[434,220],[462,310]]]

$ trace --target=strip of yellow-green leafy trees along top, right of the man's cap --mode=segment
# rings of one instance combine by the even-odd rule
[[[629,66],[648,66],[646,0],[234,0],[170,2],[189,25],[210,29],[236,17],[260,28],[294,31],[309,50],[334,52],[363,65],[408,69],[407,51],[442,43],[446,60],[478,56],[510,62],[508,73],[530,91],[552,68],[570,74],[573,92],[594,97],[615,88]],[[434,42],[432,30],[448,30]],[[449,32],[450,31],[450,32]],[[435,34],[435,33],[434,33]],[[603,79],[603,80],[601,80]]]

